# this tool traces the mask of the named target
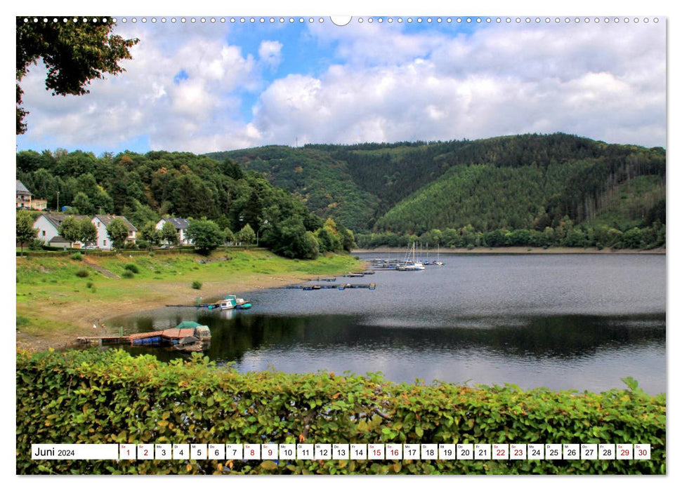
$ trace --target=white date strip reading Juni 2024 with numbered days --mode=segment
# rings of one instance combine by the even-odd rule
[[[82,443],[34,460],[650,460],[648,443]]]

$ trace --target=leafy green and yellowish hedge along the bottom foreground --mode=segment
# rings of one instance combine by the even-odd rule
[[[665,396],[240,374],[207,358],[17,354],[17,473],[664,474]],[[650,443],[648,461],[32,461],[32,443]]]

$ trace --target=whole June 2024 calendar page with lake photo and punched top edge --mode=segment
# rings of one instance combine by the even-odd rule
[[[458,9],[17,14],[17,475],[667,474],[668,18]]]

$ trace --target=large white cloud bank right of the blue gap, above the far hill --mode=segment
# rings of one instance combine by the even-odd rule
[[[346,63],[264,90],[254,117],[263,143],[563,131],[664,144],[661,26],[495,26],[450,38],[366,27],[346,37],[312,29],[320,42],[338,43]]]

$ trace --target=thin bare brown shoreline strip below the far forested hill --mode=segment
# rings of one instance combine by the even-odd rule
[[[656,248],[649,250],[636,249],[602,249],[597,248],[572,248],[572,247],[553,247],[549,249],[543,248],[528,248],[528,247],[477,247],[473,249],[467,248],[443,248],[440,250],[442,254],[665,254],[665,248]],[[405,254],[405,248],[396,247],[379,247],[376,249],[355,249],[352,254],[362,253],[400,253]],[[422,257],[426,254],[424,250]],[[429,249],[428,254],[435,257],[438,254],[437,249]]]

